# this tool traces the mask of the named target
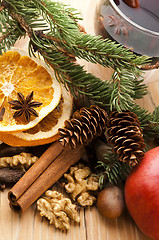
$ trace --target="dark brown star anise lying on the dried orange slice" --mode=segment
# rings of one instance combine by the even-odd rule
[[[34,108],[39,107],[42,103],[33,101],[33,93],[32,91],[25,99],[23,94],[18,92],[18,100],[8,102],[13,105],[12,109],[17,110],[13,115],[14,118],[24,115],[27,122],[29,122],[31,115],[38,117],[38,113]]]

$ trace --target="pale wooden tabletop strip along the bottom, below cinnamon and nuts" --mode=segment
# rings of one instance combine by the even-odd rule
[[[61,232],[41,218],[33,204],[22,215],[8,206],[8,189],[0,193],[0,234],[3,240],[149,240],[142,234],[125,212],[118,219],[106,219],[96,207],[80,210],[80,224],[71,223],[70,230]]]

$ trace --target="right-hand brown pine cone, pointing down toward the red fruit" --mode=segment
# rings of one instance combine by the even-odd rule
[[[135,166],[143,157],[145,143],[140,122],[130,111],[110,113],[107,120],[108,142],[114,144],[113,151],[122,162]]]

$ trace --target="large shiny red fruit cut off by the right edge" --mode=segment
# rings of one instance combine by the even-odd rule
[[[128,176],[125,203],[138,228],[159,240],[159,147],[147,151]]]

